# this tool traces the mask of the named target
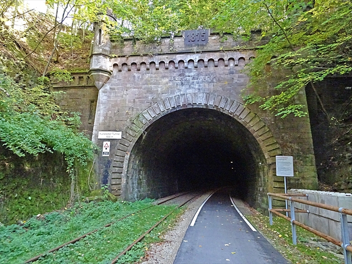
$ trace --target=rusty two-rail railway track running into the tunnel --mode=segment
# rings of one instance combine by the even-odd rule
[[[93,230],[93,231],[87,232],[87,233],[85,233],[85,234],[83,234],[83,235],[81,235],[81,236],[79,236],[79,237],[77,237],[77,238],[75,238],[75,239],[72,239],[72,240],[70,240],[70,241],[68,241],[68,242],[66,242],[66,243],[63,243],[63,244],[61,244],[61,245],[59,245],[59,246],[57,246],[57,247],[55,247],[55,248],[52,248],[52,249],[50,249],[50,250],[48,250],[48,251],[46,251],[46,252],[44,252],[44,253],[42,253],[42,254],[39,254],[39,255],[37,255],[37,256],[34,256],[34,257],[32,257],[32,258],[26,260],[24,263],[26,264],[26,263],[34,262],[34,261],[38,260],[38,259],[41,258],[41,257],[45,257],[45,255],[48,254],[48,253],[55,252],[55,251],[57,251],[57,250],[59,250],[59,249],[65,247],[65,246],[68,246],[68,245],[70,245],[70,244],[73,244],[73,243],[75,243],[75,242],[81,240],[81,239],[84,238],[84,237],[90,236],[91,234],[93,234],[93,233],[95,233],[95,232],[101,231],[101,230],[103,230],[103,229],[105,229],[105,228],[107,228],[107,227],[109,227],[109,226],[112,226],[113,224],[115,224],[115,223],[117,223],[117,222],[119,222],[119,221],[122,221],[122,220],[124,220],[124,219],[126,219],[126,218],[129,218],[129,217],[131,217],[131,216],[133,216],[133,215],[135,215],[135,214],[137,214],[137,213],[140,213],[140,212],[142,212],[142,211],[145,211],[145,210],[147,210],[147,209],[149,209],[149,208],[151,208],[151,207],[153,207],[153,206],[156,206],[156,205],[166,205],[166,204],[177,204],[177,206],[175,206],[175,208],[174,208],[171,212],[169,212],[169,213],[168,213],[166,216],[164,216],[161,220],[159,220],[157,223],[155,223],[155,224],[153,225],[153,227],[151,227],[147,232],[145,232],[143,235],[141,235],[139,238],[137,238],[137,239],[136,239],[132,244],[130,244],[124,251],[122,251],[117,257],[115,257],[115,258],[113,259],[113,261],[111,262],[111,263],[115,263],[115,262],[118,260],[118,258],[119,258],[120,256],[122,256],[122,255],[125,254],[128,250],[130,250],[130,249],[133,247],[133,245],[135,245],[136,243],[138,243],[139,241],[141,241],[141,240],[145,237],[146,234],[148,234],[149,232],[151,232],[156,226],[158,226],[162,221],[164,221],[164,220],[165,220],[169,215],[171,215],[175,210],[177,210],[177,209],[180,208],[181,206],[187,204],[188,202],[190,202],[191,200],[195,199],[195,198],[196,198],[197,196],[199,196],[199,195],[200,195],[200,193],[195,193],[195,192],[183,192],[183,193],[171,195],[171,196],[168,196],[168,197],[165,197],[165,198],[161,198],[161,199],[155,201],[152,205],[150,205],[150,206],[148,206],[148,207],[146,207],[146,208],[143,208],[143,209],[138,210],[138,211],[135,211],[135,212],[133,212],[133,213],[131,213],[131,214],[129,214],[129,215],[126,215],[126,216],[124,216],[124,217],[121,217],[120,219],[118,219],[118,220],[116,220],[116,221],[114,221],[114,222],[111,222],[111,223],[109,223],[109,224],[106,224],[106,225],[104,225],[104,226],[101,227],[101,228],[98,228],[98,229],[95,229],[95,230]]]

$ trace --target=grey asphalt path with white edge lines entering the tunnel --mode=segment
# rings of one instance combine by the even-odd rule
[[[191,225],[174,264],[289,263],[259,232],[253,231],[225,190],[209,198]]]

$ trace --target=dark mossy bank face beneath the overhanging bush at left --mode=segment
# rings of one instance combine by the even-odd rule
[[[28,160],[25,167],[2,171],[4,178],[0,180],[0,222],[13,224],[28,219],[34,214],[50,212],[66,206],[69,198],[70,178],[65,173],[65,166],[53,164],[58,160],[55,155],[47,155],[54,162],[47,162],[43,166],[43,158],[36,162]],[[9,160],[7,160],[9,161]],[[50,164],[48,164],[50,163]],[[12,163],[14,164],[14,163]],[[36,165],[31,167],[30,165]],[[48,173],[38,172],[42,169],[52,169],[59,172],[52,178]],[[14,174],[14,172],[22,172]]]

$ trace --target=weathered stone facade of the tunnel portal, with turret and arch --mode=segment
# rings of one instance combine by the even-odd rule
[[[257,185],[253,197],[261,207],[267,203],[266,192],[283,192],[283,178],[275,176],[275,155],[294,156],[290,188],[317,188],[309,116],[281,119],[257,105],[243,106],[241,91],[249,80],[243,69],[262,43],[257,36],[244,42],[210,35],[207,45],[185,46],[183,37],[164,38],[158,44],[122,44],[111,43],[104,27],[101,31],[96,27],[95,34],[91,70],[73,73],[70,83],[53,80],[53,85],[66,92],[57,97],[62,109],[80,112],[81,128],[93,131],[92,140],[99,146],[107,141],[98,139],[99,131],[123,131],[121,140],[110,140],[110,156],[98,157],[101,182],[111,184],[113,194],[131,198],[126,190],[129,158],[143,131],[165,114],[190,107],[230,115],[253,135],[262,150],[258,156],[267,160],[261,167],[253,160],[260,174],[253,175]],[[99,34],[102,42],[97,41]],[[268,80],[262,92],[271,91],[272,84]],[[304,90],[296,100],[306,105]],[[170,189],[167,183],[158,186],[160,193]]]

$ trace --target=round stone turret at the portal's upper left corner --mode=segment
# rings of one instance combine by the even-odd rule
[[[94,43],[91,57],[91,69],[89,75],[93,78],[98,90],[109,80],[111,76],[110,69],[110,50],[111,41],[107,34],[105,19],[116,21],[111,10],[106,14],[100,14],[101,21],[94,23]]]

